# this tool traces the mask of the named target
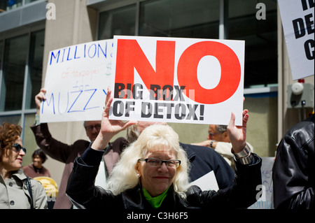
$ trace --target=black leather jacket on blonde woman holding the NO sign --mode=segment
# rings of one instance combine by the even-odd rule
[[[87,150],[88,151],[88,150]],[[188,189],[187,199],[181,199],[169,189],[159,210],[188,210],[200,208],[246,208],[255,203],[257,185],[261,185],[261,159],[253,154],[253,164],[237,164],[235,184],[228,189],[202,192],[199,187]],[[81,157],[73,164],[66,194],[79,208],[117,210],[151,210],[151,205],[141,192],[141,185],[128,189],[117,196],[111,191],[94,186],[99,166],[87,166]]]

